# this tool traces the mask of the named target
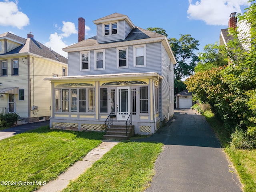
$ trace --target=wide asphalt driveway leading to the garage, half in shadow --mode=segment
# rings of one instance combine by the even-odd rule
[[[240,192],[238,176],[204,116],[175,110],[158,133],[141,141],[164,143],[146,192]]]

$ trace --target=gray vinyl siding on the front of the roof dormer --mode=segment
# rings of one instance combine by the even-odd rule
[[[107,24],[107,23],[106,23]],[[124,29],[125,29],[125,26],[124,26],[124,20],[122,21],[118,21],[118,34],[114,34],[114,35],[107,35],[107,36],[104,36],[103,34],[103,24],[97,24],[97,42],[100,43],[100,42],[109,42],[109,41],[115,41],[115,40],[122,40],[124,39],[124,35],[125,35],[125,32],[124,32]]]

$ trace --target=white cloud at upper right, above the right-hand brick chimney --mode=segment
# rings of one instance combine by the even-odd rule
[[[189,1],[188,18],[203,20],[208,25],[228,25],[230,13],[241,13],[240,6],[247,6],[248,0],[200,0]]]

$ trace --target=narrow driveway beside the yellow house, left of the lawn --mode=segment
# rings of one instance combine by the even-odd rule
[[[50,120],[40,121],[40,122],[35,122],[35,123],[22,124],[22,125],[18,125],[18,126],[12,127],[12,128],[1,130],[0,131],[0,140],[14,136],[19,133],[23,133],[23,132],[26,132],[29,130],[39,128],[41,126],[49,125],[49,123],[50,123]]]

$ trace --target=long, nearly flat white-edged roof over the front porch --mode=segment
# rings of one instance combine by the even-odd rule
[[[50,80],[52,82],[59,82],[64,80],[102,80],[103,78],[157,78],[163,79],[163,77],[156,72],[148,73],[118,73],[118,74],[97,74],[97,75],[79,75],[79,76],[64,76],[64,77],[50,77],[44,78],[44,80]]]

